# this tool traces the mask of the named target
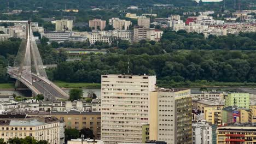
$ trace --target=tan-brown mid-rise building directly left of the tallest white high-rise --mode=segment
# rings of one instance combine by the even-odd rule
[[[51,117],[64,121],[67,129],[89,128],[96,139],[101,137],[101,112],[51,112]]]

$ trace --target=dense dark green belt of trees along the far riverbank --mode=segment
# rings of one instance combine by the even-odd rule
[[[160,83],[196,80],[256,82],[254,51],[181,50],[158,55],[126,55],[126,52],[86,56],[82,61],[61,63],[48,73],[51,73],[52,80],[101,82],[102,74],[127,74],[129,61],[130,74],[156,75]]]

